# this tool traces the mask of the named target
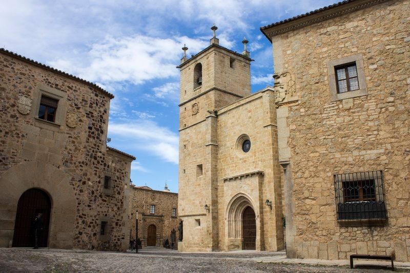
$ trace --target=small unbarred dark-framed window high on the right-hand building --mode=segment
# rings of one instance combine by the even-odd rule
[[[337,93],[359,90],[356,62],[335,67]]]

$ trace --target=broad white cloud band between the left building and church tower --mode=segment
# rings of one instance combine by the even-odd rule
[[[149,151],[162,160],[178,164],[178,135],[154,121],[113,121],[109,123],[108,133],[111,138],[118,136],[126,150]]]

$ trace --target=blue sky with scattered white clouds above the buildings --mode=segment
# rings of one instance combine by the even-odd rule
[[[273,85],[272,44],[259,28],[329,0],[2,1],[0,48],[96,83],[114,94],[109,146],[137,159],[136,185],[178,192],[179,70],[187,55],[249,40],[252,92]]]

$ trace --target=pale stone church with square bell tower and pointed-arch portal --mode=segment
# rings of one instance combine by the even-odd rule
[[[252,59],[210,46],[181,64],[181,251],[283,249],[273,90],[251,95]],[[265,200],[272,205],[265,205]]]

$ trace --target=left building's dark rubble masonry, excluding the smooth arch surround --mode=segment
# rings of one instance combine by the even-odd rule
[[[36,119],[42,91],[61,95],[57,108],[59,125]],[[32,99],[27,115],[17,111],[20,96]],[[68,228],[65,238],[61,238],[62,233],[60,238],[57,236],[54,241],[49,240],[54,247],[124,250],[122,241],[125,234],[122,228],[128,220],[124,218],[125,186],[129,182],[132,159],[107,155],[109,105],[107,94],[85,83],[0,54],[0,178],[9,177],[10,172],[24,164],[42,165],[46,170],[55,168],[68,176],[68,181],[60,190],[65,191],[63,199],[72,199],[74,206],[59,208],[61,211],[57,212],[55,209],[63,201],[58,198],[53,200],[56,196],[50,196],[53,200],[52,214],[73,215],[73,218],[67,218],[71,219],[69,222],[54,222],[50,226],[50,230]],[[74,128],[66,125],[68,112],[75,113]],[[33,168],[25,171],[32,174],[39,171]],[[106,169],[115,173],[112,196],[101,193],[101,181],[104,181]],[[36,177],[27,178],[30,179],[32,185],[38,185],[50,194],[51,190],[48,189],[53,187],[54,174],[42,181],[36,180]],[[5,181],[5,184],[16,183],[19,181]],[[10,191],[14,193],[15,190]],[[15,215],[17,201],[7,201],[6,196],[2,200],[6,203],[2,203],[0,209]],[[98,240],[101,216],[112,219],[110,241]],[[2,220],[2,227],[12,236],[14,218]]]

